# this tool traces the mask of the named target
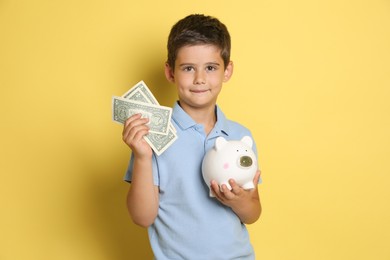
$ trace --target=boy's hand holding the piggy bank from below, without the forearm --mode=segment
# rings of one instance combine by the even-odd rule
[[[229,190],[225,184],[220,187],[216,181],[211,181],[211,188],[215,197],[224,205],[231,207],[233,210],[243,205],[243,203],[251,201],[254,197],[258,198],[257,184],[260,178],[258,171],[253,179],[254,189],[244,190],[235,180],[230,179],[229,184],[232,190]]]

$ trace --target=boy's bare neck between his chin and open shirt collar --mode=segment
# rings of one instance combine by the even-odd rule
[[[214,128],[215,123],[217,122],[215,105],[204,108],[183,106],[180,102],[179,105],[197,124],[203,125],[206,135]]]

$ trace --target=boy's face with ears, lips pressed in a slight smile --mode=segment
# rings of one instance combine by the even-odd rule
[[[176,85],[184,110],[214,108],[222,84],[232,73],[233,63],[224,68],[221,50],[214,45],[184,46],[178,51],[175,68],[165,66],[165,75]]]

